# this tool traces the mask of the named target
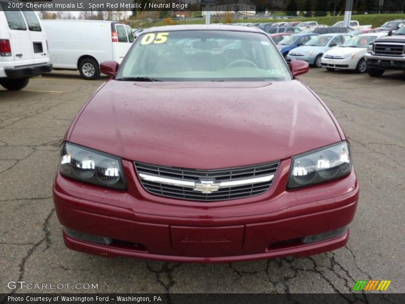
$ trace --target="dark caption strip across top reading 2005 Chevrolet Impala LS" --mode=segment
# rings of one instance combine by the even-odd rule
[[[345,0],[4,0],[0,10],[34,11],[215,11],[217,14],[244,13],[255,15],[284,11],[296,16],[299,12],[336,11],[343,13]],[[390,11],[401,13],[403,0],[350,0],[352,11]]]

